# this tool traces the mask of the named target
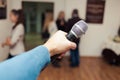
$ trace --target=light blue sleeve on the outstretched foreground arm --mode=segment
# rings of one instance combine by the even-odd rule
[[[40,71],[50,62],[44,46],[0,63],[0,80],[37,80]]]

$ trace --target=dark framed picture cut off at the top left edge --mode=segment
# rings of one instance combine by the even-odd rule
[[[0,19],[6,19],[7,16],[7,2],[6,0],[0,0]]]

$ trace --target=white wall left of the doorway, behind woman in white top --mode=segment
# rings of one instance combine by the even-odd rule
[[[7,19],[0,20],[0,61],[6,59],[9,53],[9,47],[1,47],[1,43],[9,36],[12,28],[12,23],[9,21],[9,12],[13,8],[20,8],[20,4],[20,0],[7,0]]]

